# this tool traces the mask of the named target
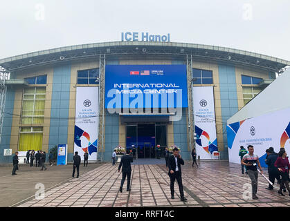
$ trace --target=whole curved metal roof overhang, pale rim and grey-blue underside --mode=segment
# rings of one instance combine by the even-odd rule
[[[125,59],[131,55],[134,56],[134,59],[143,59],[144,57],[151,59],[152,57],[160,57],[162,59],[167,57],[169,59],[181,59],[184,62],[186,62],[186,55],[192,55],[192,59],[251,66],[277,73],[283,72],[286,66],[290,66],[290,61],[245,50],[203,44],[155,41],[114,41],[41,50],[0,59],[0,66],[13,72],[77,59],[96,59],[100,55],[106,55],[107,60]]]

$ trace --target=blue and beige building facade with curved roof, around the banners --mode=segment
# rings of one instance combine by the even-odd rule
[[[188,104],[178,121],[164,115],[109,113],[105,106],[106,66],[183,65]],[[213,88],[217,148],[228,158],[226,122],[275,79],[289,61],[253,52],[197,44],[161,42],[111,42],[71,46],[1,59],[10,73],[6,80],[0,162],[10,163],[3,150],[30,149],[47,153],[56,144],[68,144],[68,161],[75,148],[75,108],[78,88],[98,87],[98,160],[110,161],[118,145],[129,147],[141,137],[153,137],[149,146],[176,145],[185,160],[194,145],[192,88]],[[97,128],[96,128],[97,129]],[[152,134],[150,134],[152,133]],[[130,140],[133,139],[133,140]],[[145,138],[144,138],[145,139]],[[147,138],[146,138],[147,139]],[[148,140],[143,140],[142,157]],[[149,139],[149,138],[148,138]],[[140,144],[140,143],[139,143]],[[141,151],[142,152],[142,151]]]

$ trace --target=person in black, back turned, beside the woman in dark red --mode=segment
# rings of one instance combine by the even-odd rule
[[[266,149],[266,154],[267,156],[266,156],[265,162],[268,165],[269,180],[274,184],[275,178],[276,178],[278,181],[278,184],[280,184],[281,182],[280,175],[279,175],[277,167],[274,165],[278,158],[278,154],[275,152],[272,152],[270,148]],[[269,187],[266,187],[266,189],[273,190],[273,186],[269,184]]]

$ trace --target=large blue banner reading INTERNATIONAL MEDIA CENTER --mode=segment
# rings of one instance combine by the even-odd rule
[[[106,108],[186,108],[185,65],[107,65]]]

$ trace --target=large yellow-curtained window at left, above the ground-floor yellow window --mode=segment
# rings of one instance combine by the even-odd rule
[[[25,88],[21,124],[43,124],[46,88]]]

